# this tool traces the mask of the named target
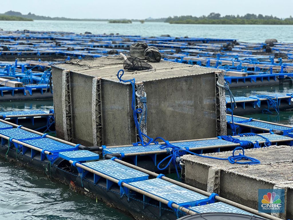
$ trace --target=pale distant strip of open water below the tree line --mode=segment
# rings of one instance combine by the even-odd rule
[[[131,24],[108,23],[106,21],[0,21],[4,31],[27,29],[30,31],[66,31],[93,34],[120,33],[144,37],[169,34],[173,37],[233,38],[246,42],[264,42],[276,38],[280,42],[292,42],[291,25],[213,25],[213,24],[169,24],[164,22],[133,22]]]

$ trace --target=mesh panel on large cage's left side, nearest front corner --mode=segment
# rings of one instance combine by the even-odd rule
[[[131,85],[101,81],[103,144],[127,145],[136,142],[131,109]]]

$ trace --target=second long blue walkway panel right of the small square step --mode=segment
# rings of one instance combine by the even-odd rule
[[[132,182],[130,185],[142,189],[145,192],[155,196],[161,197],[162,199],[168,200],[169,208],[171,208],[171,203],[176,203],[183,207],[192,207],[215,202],[214,196],[216,194],[212,194],[210,197],[206,197],[202,194],[190,191],[160,178]],[[150,198],[144,196],[144,202],[148,203],[149,201]],[[165,205],[160,202],[160,207],[164,206]]]

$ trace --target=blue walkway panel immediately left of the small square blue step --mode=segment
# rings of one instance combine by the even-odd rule
[[[47,150],[52,153],[51,155],[47,155],[45,153],[22,146],[22,154],[25,154],[27,150],[31,150],[31,158],[34,158],[36,155],[40,154],[40,160],[44,160],[47,157],[48,160],[54,161],[58,158],[59,152],[67,153],[64,151],[70,152],[73,150],[78,150],[78,145],[71,146],[68,144],[64,144],[64,143],[52,140],[51,138],[31,139],[31,140],[25,140],[22,142],[35,146],[42,150]]]

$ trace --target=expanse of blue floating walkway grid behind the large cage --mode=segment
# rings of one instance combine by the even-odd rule
[[[165,60],[216,67],[226,70],[230,87],[292,84],[292,43],[244,43],[235,39],[150,37],[138,35],[95,35],[61,32],[1,31],[0,60],[34,60],[34,70],[45,72],[50,60],[70,60],[105,57],[124,53],[130,45],[147,43],[161,50]],[[42,61],[39,61],[42,59]],[[47,60],[47,61],[46,61]],[[14,67],[13,67],[14,66]],[[6,68],[6,66],[3,66]],[[8,64],[8,69],[22,70],[21,65]],[[17,71],[19,77],[45,80],[48,75],[37,71]],[[4,71],[5,72],[5,71]],[[32,82],[31,82],[32,83]]]

